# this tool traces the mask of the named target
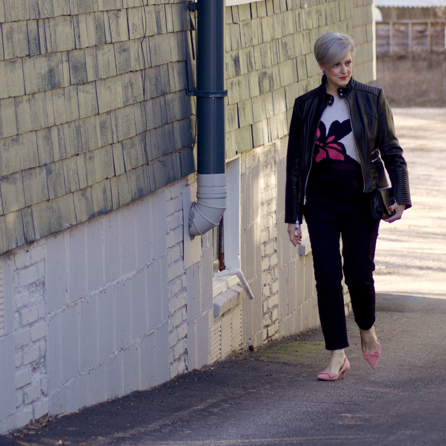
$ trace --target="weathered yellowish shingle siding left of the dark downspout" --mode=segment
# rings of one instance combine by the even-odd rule
[[[193,172],[188,5],[141,4],[1,2],[0,252]]]

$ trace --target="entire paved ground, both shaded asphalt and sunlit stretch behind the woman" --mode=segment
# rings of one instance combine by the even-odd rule
[[[350,317],[345,380],[316,380],[329,354],[311,330],[27,426],[0,445],[446,444],[446,111],[396,110],[395,120],[414,206],[380,228],[376,370]]]

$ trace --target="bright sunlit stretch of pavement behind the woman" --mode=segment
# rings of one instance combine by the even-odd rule
[[[413,208],[380,225],[376,291],[446,298],[446,108],[393,112]]]

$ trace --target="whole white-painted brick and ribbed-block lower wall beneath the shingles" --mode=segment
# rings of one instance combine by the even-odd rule
[[[209,234],[188,268],[200,279],[188,279],[182,189],[194,176],[8,253],[16,407],[0,429],[149,388],[235,348],[317,324],[314,298],[280,320],[276,155],[274,143],[241,155],[241,172],[251,175],[244,199],[259,204],[250,203],[251,221],[244,217],[252,253],[242,253],[253,254],[245,262],[258,310],[245,298],[214,321]],[[308,275],[310,261],[305,268]],[[87,339],[95,337],[91,348]]]

